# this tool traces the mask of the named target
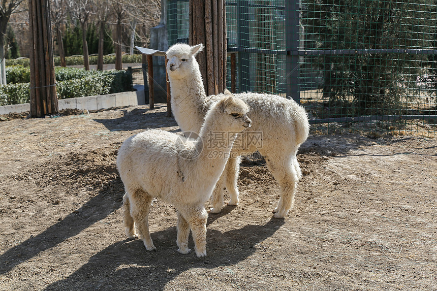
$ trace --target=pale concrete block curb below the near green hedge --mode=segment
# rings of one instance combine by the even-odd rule
[[[107,95],[58,100],[59,110],[67,108],[80,110],[97,110],[111,107],[135,106],[144,104],[146,104],[144,97],[144,86],[142,86],[142,90],[131,92],[120,92]],[[19,113],[24,111],[30,111],[29,103],[0,106],[0,114],[8,114],[13,112]]]

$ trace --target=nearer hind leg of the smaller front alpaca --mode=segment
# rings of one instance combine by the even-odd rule
[[[144,242],[147,250],[156,250],[149,233],[149,211],[153,198],[142,190],[136,190],[130,198],[131,215],[137,226],[140,239]]]

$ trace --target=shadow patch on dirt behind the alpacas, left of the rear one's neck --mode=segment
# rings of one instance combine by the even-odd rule
[[[161,108],[166,106],[155,106]],[[177,126],[173,117],[167,117],[167,112],[148,112],[148,108],[136,108],[132,111],[121,110],[122,117],[114,119],[94,119],[111,131],[134,131],[146,128]]]

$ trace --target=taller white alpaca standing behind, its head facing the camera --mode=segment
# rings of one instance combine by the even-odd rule
[[[220,95],[206,96],[199,64],[195,56],[203,45],[175,44],[166,52],[167,72],[171,87],[171,107],[183,132],[199,132],[202,119],[212,102]],[[249,107],[252,127],[238,135],[224,174],[212,194],[211,213],[223,207],[226,186],[229,205],[237,205],[237,179],[240,155],[258,150],[266,158],[267,167],[279,183],[281,192],[274,217],[283,218],[294,204],[294,193],[302,174],[296,159],[299,146],[308,137],[309,124],[305,110],[296,102],[281,96],[245,92],[236,94]],[[252,142],[251,142],[252,141]],[[237,146],[238,145],[238,146]]]

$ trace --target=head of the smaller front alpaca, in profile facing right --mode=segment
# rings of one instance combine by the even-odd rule
[[[225,90],[225,96],[217,101],[211,111],[220,115],[220,121],[215,122],[220,124],[224,131],[241,132],[251,127],[252,120],[247,117],[249,112],[247,105],[228,90]]]

